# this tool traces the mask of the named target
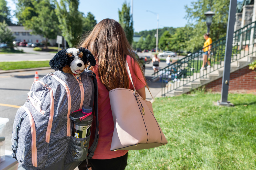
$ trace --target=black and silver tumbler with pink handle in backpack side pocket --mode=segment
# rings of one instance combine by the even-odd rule
[[[86,106],[82,110],[70,114],[69,118],[74,122],[72,136],[85,138],[90,135],[91,123],[93,122],[92,111],[93,108]]]

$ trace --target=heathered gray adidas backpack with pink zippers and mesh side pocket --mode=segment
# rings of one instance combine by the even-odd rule
[[[91,70],[83,71],[80,80],[56,71],[32,84],[26,103],[16,113],[12,132],[13,157],[23,168],[75,169],[93,156],[98,142],[97,80]],[[91,134],[81,139],[70,135],[73,122],[69,114],[84,106],[94,108],[95,113],[90,148]]]

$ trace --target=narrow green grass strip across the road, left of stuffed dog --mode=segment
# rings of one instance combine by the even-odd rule
[[[49,61],[0,62],[0,70],[50,67]]]

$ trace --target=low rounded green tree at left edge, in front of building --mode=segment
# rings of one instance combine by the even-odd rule
[[[13,40],[15,37],[13,36],[13,33],[11,30],[7,27],[8,24],[5,22],[0,22],[0,43],[6,43],[10,47],[13,47]]]

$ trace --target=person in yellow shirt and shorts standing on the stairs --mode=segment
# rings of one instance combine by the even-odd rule
[[[206,34],[203,35],[203,38],[206,41],[204,42],[204,45],[203,45],[203,65],[200,69],[201,71],[206,69],[206,67],[205,67],[206,63],[208,64],[207,68],[211,67],[211,63],[208,60],[208,55],[210,55],[210,53],[211,53],[212,39],[209,36],[210,36],[209,32],[207,32]]]

